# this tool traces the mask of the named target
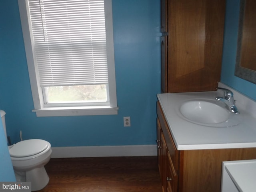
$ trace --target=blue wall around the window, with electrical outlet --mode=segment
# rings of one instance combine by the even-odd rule
[[[155,144],[160,92],[160,0],[112,0],[118,115],[37,118],[17,0],[0,2],[0,108],[12,143],[57,146]],[[131,127],[123,126],[131,117]]]

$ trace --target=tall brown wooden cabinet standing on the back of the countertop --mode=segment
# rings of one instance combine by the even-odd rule
[[[161,0],[162,92],[216,90],[220,81],[224,0]]]

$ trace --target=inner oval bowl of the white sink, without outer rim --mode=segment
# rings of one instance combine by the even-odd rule
[[[215,124],[228,120],[229,111],[208,101],[188,101],[180,107],[181,114],[193,122]]]

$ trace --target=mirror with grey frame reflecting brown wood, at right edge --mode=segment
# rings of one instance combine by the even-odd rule
[[[256,1],[240,0],[235,76],[256,84]]]

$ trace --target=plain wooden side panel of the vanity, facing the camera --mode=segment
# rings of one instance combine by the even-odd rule
[[[182,192],[221,189],[222,161],[256,158],[256,148],[184,151]]]

